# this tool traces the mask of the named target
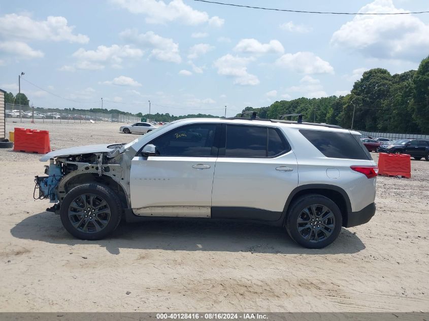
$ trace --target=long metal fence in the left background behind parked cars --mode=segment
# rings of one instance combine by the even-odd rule
[[[137,123],[140,121],[140,117],[121,114],[70,111],[55,108],[32,108],[31,106],[7,103],[5,120],[6,122],[59,124],[102,122]]]

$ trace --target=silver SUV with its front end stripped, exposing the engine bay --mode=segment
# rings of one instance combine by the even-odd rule
[[[48,153],[35,181],[81,239],[111,234],[122,217],[246,219],[321,248],[375,213],[377,167],[359,137],[302,121],[183,119],[129,144]]]

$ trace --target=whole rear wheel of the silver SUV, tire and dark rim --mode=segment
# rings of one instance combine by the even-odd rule
[[[320,214],[324,219],[319,217]],[[325,223],[324,227],[323,224],[317,224],[319,219],[320,223]],[[316,227],[314,223],[317,224]],[[323,248],[331,244],[340,234],[342,224],[343,219],[337,204],[319,194],[299,197],[293,201],[287,211],[287,232],[296,243],[307,248]],[[302,229],[299,230],[299,228]]]

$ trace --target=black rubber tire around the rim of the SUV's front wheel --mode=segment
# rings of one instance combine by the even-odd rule
[[[97,233],[84,233],[75,229],[69,220],[69,206],[71,202],[81,194],[91,193],[101,196],[110,207],[110,221],[107,226]],[[103,184],[89,183],[79,185],[67,193],[61,202],[59,211],[61,223],[64,228],[74,237],[82,240],[99,240],[113,233],[119,225],[122,216],[121,202],[114,191]]]

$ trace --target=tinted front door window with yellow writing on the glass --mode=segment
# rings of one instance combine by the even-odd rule
[[[217,156],[215,132],[214,124],[183,126],[155,138],[149,144],[155,145],[159,156]]]

